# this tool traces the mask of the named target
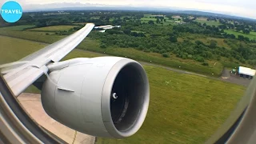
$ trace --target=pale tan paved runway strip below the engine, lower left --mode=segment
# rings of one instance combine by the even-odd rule
[[[50,118],[42,108],[41,95],[40,94],[21,94],[18,96],[18,101],[21,103],[22,107],[26,112],[37,122],[40,126],[49,130],[51,133],[62,138],[62,140],[67,143],[83,143],[83,144],[93,144],[95,138],[72,130],[61,123]],[[74,135],[76,135],[74,137]]]

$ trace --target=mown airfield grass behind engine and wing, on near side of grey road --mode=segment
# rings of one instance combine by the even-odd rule
[[[1,63],[45,46],[8,37],[0,37],[0,43]],[[74,50],[65,59],[100,55]],[[150,80],[150,108],[142,129],[130,138],[98,138],[97,143],[202,143],[226,120],[245,90],[210,78],[144,67]],[[27,92],[34,90],[30,87]]]

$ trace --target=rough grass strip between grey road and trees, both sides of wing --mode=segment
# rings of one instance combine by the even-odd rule
[[[15,31],[15,30],[3,30],[0,28],[0,35],[10,36],[14,38],[22,38],[36,42],[45,42],[45,43],[53,43],[57,42],[59,39],[65,38],[65,36],[59,35],[46,35],[46,32],[37,32],[37,31]],[[170,66],[174,68],[182,68],[183,70],[193,71],[200,74],[214,74],[218,76],[222,73],[222,66],[202,66],[198,62],[194,62],[193,60],[183,60],[182,58],[176,58],[175,56],[171,56],[170,58],[162,58],[161,54],[155,53],[146,53],[141,50],[134,50],[132,48],[122,49],[119,47],[108,47],[107,49],[100,48],[100,42],[97,40],[86,38],[78,48],[82,50],[92,50],[100,53],[106,53],[110,55],[116,56],[127,56],[128,58],[134,58],[136,60],[145,61],[145,62],[153,62],[157,64],[161,64],[163,66]],[[214,62],[209,62],[214,63]]]

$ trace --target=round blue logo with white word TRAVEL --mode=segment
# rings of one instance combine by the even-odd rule
[[[6,22],[17,22],[22,18],[22,6],[18,2],[6,2],[2,5],[1,15]]]

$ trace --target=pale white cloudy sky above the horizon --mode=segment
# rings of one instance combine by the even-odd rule
[[[1,0],[2,1],[2,0]],[[15,0],[24,10],[70,6],[138,6],[202,10],[256,19],[255,0]],[[6,0],[0,2],[0,6]],[[57,4],[58,3],[58,4]],[[81,5],[82,4],[82,5]],[[40,6],[44,5],[44,6]]]

